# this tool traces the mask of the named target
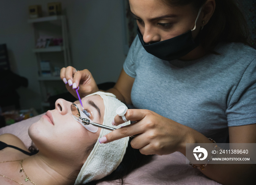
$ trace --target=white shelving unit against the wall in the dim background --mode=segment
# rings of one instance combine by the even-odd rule
[[[47,99],[50,95],[66,92],[66,88],[59,75],[43,76],[41,70],[41,61],[48,60],[52,68],[62,68],[71,65],[71,56],[68,42],[67,20],[65,15],[47,16],[27,20],[33,24],[35,46],[40,36],[52,38],[62,38],[62,46],[49,46],[46,48],[33,48],[32,51],[37,57],[38,81],[41,88],[42,111],[48,107]]]

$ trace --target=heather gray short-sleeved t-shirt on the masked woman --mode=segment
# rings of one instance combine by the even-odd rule
[[[226,142],[229,126],[256,123],[256,50],[241,43],[222,43],[219,55],[192,61],[158,59],[138,36],[124,71],[135,78],[131,99],[148,109]]]

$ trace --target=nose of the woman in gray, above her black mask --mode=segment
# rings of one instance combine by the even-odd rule
[[[145,26],[143,32],[141,32],[143,35],[143,40],[147,44],[153,44],[155,42],[160,41],[160,35],[158,34],[157,30],[150,26]]]

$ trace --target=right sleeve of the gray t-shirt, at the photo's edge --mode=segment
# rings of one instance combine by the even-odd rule
[[[244,71],[226,110],[228,126],[256,123],[256,59]]]

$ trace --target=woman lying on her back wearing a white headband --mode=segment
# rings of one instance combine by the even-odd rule
[[[81,110],[79,102],[75,103]],[[88,95],[82,103],[88,119],[111,127],[117,107],[124,105],[106,92]],[[47,111],[29,127],[29,136],[39,150],[36,154],[30,153],[18,137],[0,135],[2,185],[86,184],[104,177],[114,180],[141,160],[139,151],[127,148],[129,137],[100,144],[98,138],[110,131],[85,129],[73,118],[71,104],[58,99],[54,110]]]

